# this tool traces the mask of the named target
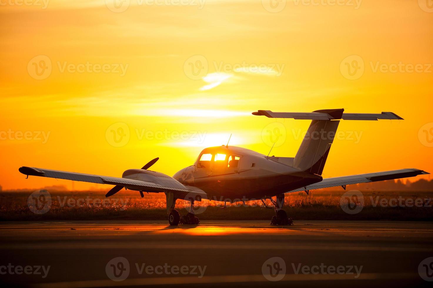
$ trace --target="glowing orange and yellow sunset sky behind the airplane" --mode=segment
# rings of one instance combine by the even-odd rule
[[[275,122],[271,155],[293,157],[309,121],[256,110],[392,111],[405,120],[342,121],[323,175],[432,172],[427,0],[269,1],[1,0],[3,190],[72,188],[23,165],[120,176],[160,157],[152,169],[173,175],[231,133],[268,154]]]

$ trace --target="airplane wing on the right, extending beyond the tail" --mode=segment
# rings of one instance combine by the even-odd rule
[[[314,190],[320,188],[337,187],[337,186],[345,187],[346,185],[349,184],[359,184],[359,183],[392,180],[398,178],[414,177],[421,174],[430,174],[430,173],[425,172],[423,170],[410,168],[410,169],[391,170],[391,171],[350,175],[350,176],[342,176],[342,177],[332,177],[332,178],[325,178],[318,183],[308,185],[306,188],[299,188],[292,191],[288,191],[288,193],[305,191],[305,190]]]

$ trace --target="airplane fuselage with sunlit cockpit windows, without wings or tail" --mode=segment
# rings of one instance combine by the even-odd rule
[[[293,168],[292,161],[241,147],[217,146],[204,149],[194,165],[173,178],[200,188],[216,201],[273,197],[322,181],[320,175]]]

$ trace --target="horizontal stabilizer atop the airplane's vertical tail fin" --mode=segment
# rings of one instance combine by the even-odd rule
[[[253,115],[263,115],[268,118],[293,118],[301,120],[404,120],[400,116],[392,112],[382,113],[325,113],[322,111],[333,111],[333,110],[317,110],[310,113],[304,112],[272,112],[271,110],[259,110],[253,112]],[[337,111],[337,110],[335,110]]]

